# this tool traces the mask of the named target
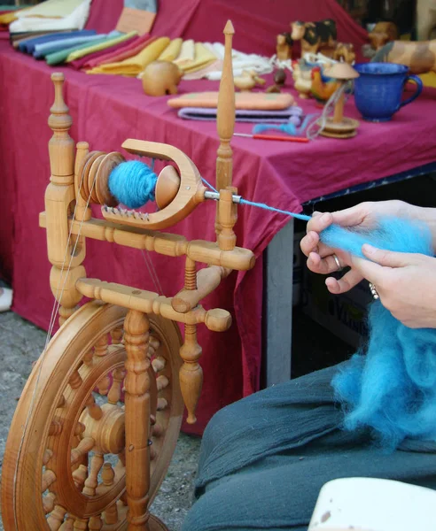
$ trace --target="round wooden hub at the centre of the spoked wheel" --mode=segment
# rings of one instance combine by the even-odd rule
[[[82,412],[80,421],[85,426],[82,438],[92,437],[95,449],[103,453],[119,454],[125,447],[124,411],[117,404],[104,404],[101,419],[93,419],[90,410]]]

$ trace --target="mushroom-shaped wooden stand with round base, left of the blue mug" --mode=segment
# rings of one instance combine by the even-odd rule
[[[335,110],[332,117],[328,117],[323,125],[320,135],[329,136],[331,138],[351,138],[356,135],[356,129],[359,127],[359,122],[356,119],[346,118],[344,116],[345,104],[345,83],[359,77],[353,66],[347,63],[335,63],[329,68],[326,68],[326,75],[335,79],[339,83],[341,94],[335,104]]]

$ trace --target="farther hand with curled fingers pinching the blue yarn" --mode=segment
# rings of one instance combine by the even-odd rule
[[[341,279],[326,279],[329,291],[334,294],[345,293],[362,281],[362,273],[353,266],[353,258],[343,250],[333,250],[320,242],[319,235],[324,228],[335,223],[341,227],[372,228],[381,216],[401,218],[417,218],[418,207],[402,201],[380,201],[361,203],[343,211],[323,213],[315,212],[308,222],[307,235],[301,240],[300,247],[308,257],[308,268],[314,273],[329,274],[339,270],[334,258],[339,259],[340,267],[350,266],[351,269]]]

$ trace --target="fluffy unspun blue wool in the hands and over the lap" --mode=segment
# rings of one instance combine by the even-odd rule
[[[321,239],[360,257],[363,243],[434,255],[428,227],[404,219],[380,219],[378,228],[368,232],[332,226]],[[408,438],[435,441],[436,329],[405,327],[379,300],[371,304],[368,319],[368,343],[331,382],[343,406],[344,427],[370,427],[387,450]]]

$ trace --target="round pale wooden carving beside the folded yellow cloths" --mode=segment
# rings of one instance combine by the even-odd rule
[[[177,94],[177,85],[182,79],[183,71],[169,61],[153,61],[141,74],[144,93],[147,96],[166,96]]]

